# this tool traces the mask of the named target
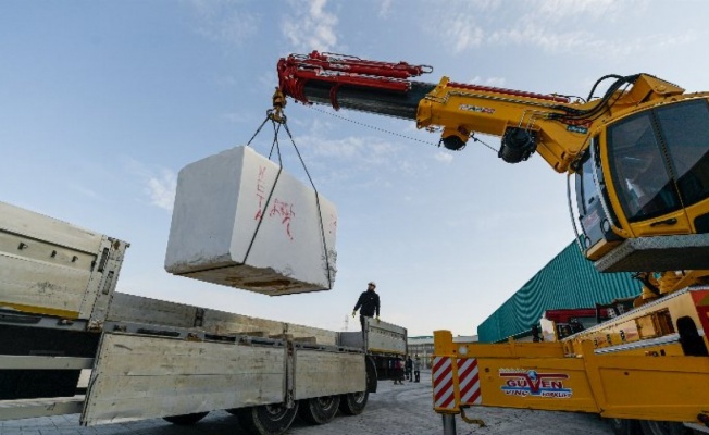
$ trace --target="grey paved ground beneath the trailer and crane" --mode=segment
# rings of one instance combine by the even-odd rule
[[[380,391],[370,395],[364,412],[356,417],[337,415],[322,426],[310,426],[296,419],[288,434],[293,435],[440,435],[440,415],[432,410],[431,374],[422,373],[421,383],[380,384]],[[487,427],[464,423],[456,418],[458,435],[523,434],[523,435],[612,435],[606,423],[595,415],[528,411],[517,409],[477,408],[471,418],[481,418]],[[2,435],[245,435],[238,419],[227,412],[210,413],[192,426],[175,426],[162,419],[135,423],[82,427],[78,415],[15,420],[0,422]]]

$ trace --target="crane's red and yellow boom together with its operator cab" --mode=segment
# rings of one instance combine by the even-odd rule
[[[318,51],[283,58],[277,71],[279,92],[296,101],[414,121],[440,129],[448,149],[483,133],[501,138],[508,163],[538,152],[575,178],[574,231],[599,271],[709,270],[708,92],[611,74],[572,99],[448,77],[424,83],[427,65]]]

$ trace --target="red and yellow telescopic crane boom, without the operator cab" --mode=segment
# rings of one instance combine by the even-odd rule
[[[490,86],[462,84],[443,77],[438,84],[413,82],[431,73],[427,65],[375,62],[360,58],[319,53],[290,54],[278,61],[279,88],[303,103],[329,104],[412,120],[419,128],[443,128],[446,148],[461,149],[474,132],[502,137],[499,157],[506,162],[539,154],[557,172],[587,146],[588,129],[604,111],[647,98],[669,96],[684,89],[648,75],[617,76],[605,98],[582,103],[560,95],[536,94]],[[622,86],[638,92],[614,95]],[[614,97],[614,98],[613,98]]]

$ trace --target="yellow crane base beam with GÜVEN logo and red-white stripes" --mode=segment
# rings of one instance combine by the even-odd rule
[[[434,332],[434,410],[472,406],[693,422],[709,410],[709,358],[598,352],[564,356],[562,343],[461,344]],[[531,350],[534,349],[534,350]]]

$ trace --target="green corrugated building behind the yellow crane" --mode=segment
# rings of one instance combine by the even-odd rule
[[[630,272],[599,273],[575,241],[567,246],[522,288],[477,326],[480,343],[531,337],[546,310],[595,308],[640,294]]]

